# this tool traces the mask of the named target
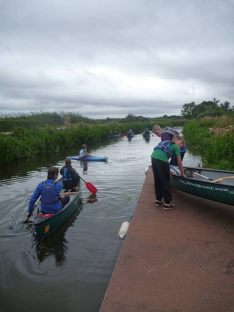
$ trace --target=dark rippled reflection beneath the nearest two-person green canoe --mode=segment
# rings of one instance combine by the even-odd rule
[[[76,217],[82,210],[81,203],[75,212],[63,222],[54,232],[47,236],[43,241],[37,241],[33,234],[33,245],[36,244],[35,251],[37,253],[37,260],[39,263],[51,256],[55,259],[55,266],[63,266],[66,262],[66,255],[68,252],[69,241],[66,240],[65,234],[69,227],[73,226]]]

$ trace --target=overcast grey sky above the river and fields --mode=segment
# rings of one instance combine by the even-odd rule
[[[0,111],[93,118],[234,103],[233,0],[0,0]]]

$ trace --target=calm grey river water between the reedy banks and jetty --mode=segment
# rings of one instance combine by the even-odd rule
[[[80,147],[0,167],[1,311],[99,311],[122,246],[119,228],[134,213],[158,142],[137,134],[88,146],[90,154],[107,156],[108,162],[72,165],[96,186],[97,195],[83,183],[75,213],[42,242],[32,222],[23,224],[28,201],[47,168],[61,168]],[[197,166],[199,159],[188,149],[183,164]]]

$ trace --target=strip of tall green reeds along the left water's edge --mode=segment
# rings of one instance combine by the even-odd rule
[[[129,128],[139,133],[146,128],[146,124],[130,123],[114,126],[81,124],[62,131],[51,127],[32,129],[14,127],[11,134],[0,135],[0,163],[56,152],[76,145],[81,147],[82,144],[88,145],[106,138],[110,130],[118,129],[121,133],[127,133]]]

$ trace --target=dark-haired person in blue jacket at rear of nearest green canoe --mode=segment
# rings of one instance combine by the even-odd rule
[[[41,196],[41,212],[45,214],[56,213],[60,211],[70,201],[70,196],[66,195],[63,198],[60,196],[62,183],[56,181],[58,178],[59,169],[50,167],[47,172],[47,180],[39,183],[32,194],[27,217],[32,215],[34,204]]]

